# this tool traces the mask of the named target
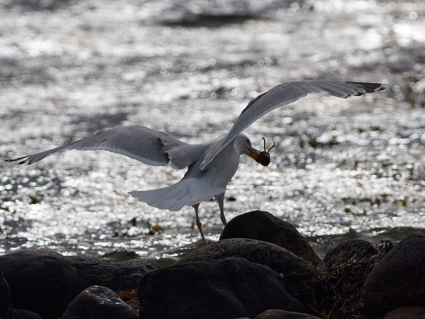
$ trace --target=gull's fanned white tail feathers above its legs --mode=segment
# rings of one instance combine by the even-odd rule
[[[168,187],[150,191],[130,191],[128,194],[149,206],[179,211],[183,206],[193,206],[215,195],[224,193],[226,189],[206,183],[201,179],[184,178]]]

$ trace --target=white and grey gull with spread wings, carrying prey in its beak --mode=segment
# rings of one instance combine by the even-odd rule
[[[196,225],[207,245],[198,217],[199,203],[215,198],[220,208],[220,218],[224,216],[224,193],[227,183],[239,166],[239,157],[246,154],[263,166],[269,165],[269,148],[264,151],[252,148],[251,141],[242,131],[264,114],[283,105],[295,102],[308,94],[325,93],[334,97],[347,98],[382,91],[391,84],[343,82],[334,80],[303,80],[282,83],[251,100],[236,119],[229,133],[201,144],[188,144],[170,135],[154,131],[142,125],[129,125],[96,131],[94,135],[66,145],[24,157],[7,159],[6,162],[20,161],[18,164],[32,164],[56,152],[65,150],[106,150],[123,154],[147,165],[166,166],[175,169],[187,167],[184,177],[164,188],[149,191],[130,191],[132,197],[152,207],[179,211],[184,206],[195,209]]]

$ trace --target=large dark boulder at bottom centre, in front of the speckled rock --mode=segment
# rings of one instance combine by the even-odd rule
[[[304,311],[278,273],[243,258],[185,262],[139,281],[144,319],[254,318],[267,309]]]

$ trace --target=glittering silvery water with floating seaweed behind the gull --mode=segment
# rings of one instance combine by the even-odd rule
[[[419,1],[3,1],[0,156],[130,124],[204,142],[279,83],[393,83],[352,99],[308,96],[249,126],[254,147],[276,142],[272,162],[241,157],[225,213],[269,211],[321,257],[346,238],[400,240],[425,228],[424,14]],[[127,194],[184,170],[105,151],[0,170],[0,253],[126,249],[169,265],[201,245],[193,208],[161,211]],[[201,203],[200,218],[217,240],[218,205]]]

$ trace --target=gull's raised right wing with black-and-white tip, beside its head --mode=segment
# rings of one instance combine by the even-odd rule
[[[347,98],[351,96],[364,95],[381,91],[391,84],[365,83],[365,82],[343,82],[332,80],[305,80],[276,85],[266,93],[263,93],[250,101],[233,124],[227,137],[215,143],[208,150],[204,160],[199,166],[203,170],[205,166],[225,148],[245,128],[258,120],[264,114],[280,106],[295,102],[307,94],[326,93],[334,97]]]

